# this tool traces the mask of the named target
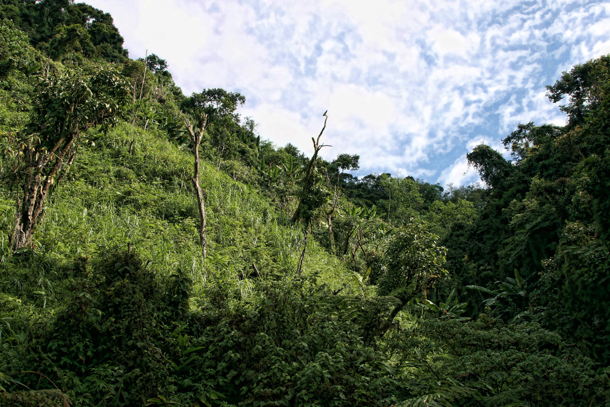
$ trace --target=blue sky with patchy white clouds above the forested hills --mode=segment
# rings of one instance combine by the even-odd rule
[[[478,182],[466,154],[518,123],[563,125],[545,97],[610,53],[610,1],[85,0],[132,58],[166,59],[185,95],[224,88],[262,139],[359,154],[355,175]],[[561,104],[561,103],[559,103]]]

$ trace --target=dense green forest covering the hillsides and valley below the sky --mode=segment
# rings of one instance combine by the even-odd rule
[[[0,406],[610,406],[610,55],[443,188],[320,157],[332,112],[274,145],[90,5],[0,33]]]

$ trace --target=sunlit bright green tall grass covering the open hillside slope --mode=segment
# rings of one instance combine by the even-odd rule
[[[247,275],[253,264],[264,279],[295,272],[303,233],[255,190],[204,164],[200,182],[206,195],[209,256],[203,261],[190,182],[191,151],[126,123],[107,135],[91,135],[95,141],[81,146],[69,175],[46,203],[43,222],[35,232],[35,252],[41,259],[52,259],[52,267],[43,278],[27,279],[24,292],[30,293],[30,301],[40,303],[32,293],[42,292],[41,286],[45,301],[53,301],[49,273],[65,278],[70,273],[57,270],[74,268],[71,264],[78,259],[127,248],[138,251],[160,275],[178,269],[188,273],[201,294],[219,283],[242,297],[251,294],[256,285],[239,276]],[[8,194],[0,200],[0,261],[13,262],[15,267],[19,262],[22,270],[40,268],[34,263],[24,268],[21,260],[9,258],[13,202]],[[317,275],[333,289],[356,287],[340,261],[314,239],[307,244],[305,273]]]

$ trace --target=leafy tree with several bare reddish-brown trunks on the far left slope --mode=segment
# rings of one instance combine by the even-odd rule
[[[82,134],[96,125],[106,130],[114,124],[128,95],[126,82],[115,70],[49,77],[36,91],[30,122],[17,142],[15,176],[23,195],[18,193],[17,198],[20,210],[11,239],[14,249],[30,243],[46,196],[56,178],[68,171]]]

